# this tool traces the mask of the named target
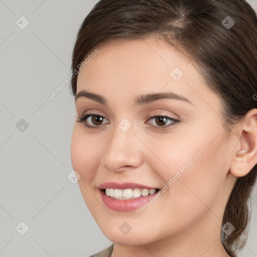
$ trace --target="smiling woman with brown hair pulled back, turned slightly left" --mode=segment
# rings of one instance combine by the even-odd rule
[[[101,0],[73,51],[71,160],[113,242],[236,256],[257,163],[257,18],[243,0]]]

